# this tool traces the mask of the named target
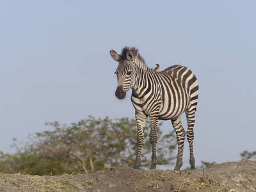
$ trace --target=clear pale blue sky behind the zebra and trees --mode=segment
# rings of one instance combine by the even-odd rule
[[[0,150],[15,152],[12,138],[52,129],[45,122],[134,118],[131,91],[115,97],[118,63],[109,55],[127,45],[148,67],[184,65],[198,78],[196,164],[238,161],[256,150],[255,8],[256,1],[1,2]],[[162,129],[173,130],[171,122]]]

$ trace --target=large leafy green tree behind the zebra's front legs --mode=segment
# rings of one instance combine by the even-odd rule
[[[136,121],[129,118],[111,120],[108,117],[85,120],[71,125],[47,123],[53,131],[37,132],[15,154],[0,154],[0,171],[32,175],[95,172],[112,166],[133,166],[136,157]],[[176,146],[174,131],[157,131],[158,164],[170,164]],[[145,128],[141,165],[150,166],[151,144],[148,138],[150,122]],[[174,141],[174,142],[173,142]]]

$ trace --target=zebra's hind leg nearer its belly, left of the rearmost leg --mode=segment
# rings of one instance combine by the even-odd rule
[[[177,156],[177,163],[174,168],[175,171],[180,170],[183,162],[183,149],[184,149],[184,140],[186,136],[186,131],[182,127],[182,123],[180,121],[180,116],[176,120],[172,120],[173,128],[176,132],[176,137],[178,141],[178,156]]]

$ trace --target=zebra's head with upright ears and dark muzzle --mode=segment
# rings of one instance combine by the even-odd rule
[[[132,87],[132,80],[134,79],[133,69],[135,54],[132,49],[127,49],[125,54],[122,55],[117,54],[115,51],[111,50],[110,55],[113,60],[118,61],[119,63],[115,72],[118,81],[116,97],[118,99],[124,99],[126,92],[128,92]]]

